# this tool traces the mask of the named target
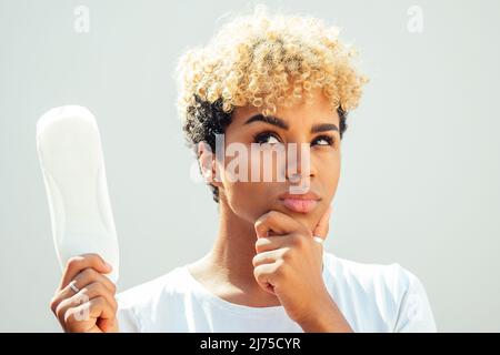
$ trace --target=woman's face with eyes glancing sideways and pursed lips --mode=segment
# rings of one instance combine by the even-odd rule
[[[237,108],[232,122],[226,129],[226,154],[233,143],[237,143],[233,148],[239,143],[239,148],[244,146],[248,152],[248,160],[240,160],[238,169],[234,169],[234,162],[231,165],[231,161],[241,156],[238,158],[238,153],[232,154],[236,158],[226,156],[226,172],[230,170],[248,179],[238,181],[234,176],[228,179],[228,175],[222,175],[221,181],[216,183],[220,203],[226,203],[232,213],[250,223],[276,210],[302,222],[312,231],[330,205],[339,181],[339,115],[330,108],[321,90],[314,92],[308,104],[279,108],[273,115],[277,119],[266,121],[258,114],[253,106]],[[257,154],[256,151],[252,154],[252,143],[256,143],[253,149],[257,148]],[[290,143],[296,143],[294,150]],[[300,155],[302,144],[309,146],[309,152]],[[279,145],[286,152],[282,159],[274,153],[270,155],[273,159],[267,161],[263,158],[266,152]],[[222,169],[220,161],[217,164],[219,170]],[[290,174],[287,169],[297,174]],[[264,178],[266,170],[271,172],[272,179],[269,179],[270,175]],[[280,174],[284,178],[281,181]]]

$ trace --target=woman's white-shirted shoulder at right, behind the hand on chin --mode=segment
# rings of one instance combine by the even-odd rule
[[[334,297],[357,321],[367,315],[369,328],[383,324],[388,332],[436,332],[423,284],[399,263],[360,263],[326,253],[324,265]]]

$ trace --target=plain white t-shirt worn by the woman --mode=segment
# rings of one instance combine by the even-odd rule
[[[283,306],[230,303],[187,266],[118,294],[120,332],[303,332]],[[322,276],[354,332],[437,332],[420,280],[397,263],[362,264],[323,252]]]

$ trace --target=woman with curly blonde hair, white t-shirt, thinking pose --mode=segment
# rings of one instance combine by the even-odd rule
[[[51,303],[63,328],[436,332],[411,272],[323,251],[347,113],[367,81],[351,57],[333,28],[262,8],[188,51],[179,109],[219,204],[213,247],[117,297],[104,261],[72,258]]]

